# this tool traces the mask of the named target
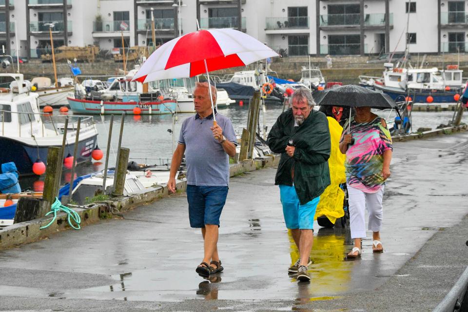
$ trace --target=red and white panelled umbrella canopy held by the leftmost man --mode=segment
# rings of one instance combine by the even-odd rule
[[[264,43],[235,29],[198,30],[161,45],[134,80],[189,78],[279,56]]]

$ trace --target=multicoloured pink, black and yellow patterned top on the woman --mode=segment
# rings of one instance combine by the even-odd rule
[[[349,186],[364,193],[376,193],[385,179],[382,176],[384,152],[393,150],[391,135],[385,120],[375,117],[372,121],[358,123],[351,117],[351,136],[354,144],[346,152],[346,182]],[[343,126],[343,134],[348,132],[348,120]]]

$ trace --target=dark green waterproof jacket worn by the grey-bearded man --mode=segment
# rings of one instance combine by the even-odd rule
[[[288,141],[295,146],[292,157],[286,154]],[[328,120],[322,112],[312,111],[302,125],[294,127],[292,109],[282,113],[270,131],[267,139],[273,153],[281,154],[275,185],[289,185],[294,188],[301,205],[321,195],[330,185],[331,140]],[[294,180],[292,169],[294,168]]]

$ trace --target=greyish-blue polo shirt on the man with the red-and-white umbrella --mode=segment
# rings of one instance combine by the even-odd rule
[[[216,122],[223,135],[237,146],[231,120],[215,111]],[[213,137],[213,114],[200,118],[198,114],[182,123],[178,143],[185,145],[187,184],[197,186],[228,186],[229,155]]]

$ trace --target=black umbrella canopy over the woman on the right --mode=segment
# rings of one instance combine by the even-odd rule
[[[312,94],[317,105],[331,106],[370,106],[378,109],[397,108],[388,94],[373,91],[355,84],[332,87]]]

